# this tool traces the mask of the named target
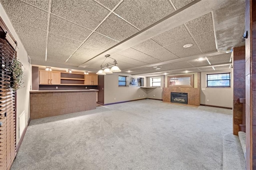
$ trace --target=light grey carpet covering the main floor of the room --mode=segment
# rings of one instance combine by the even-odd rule
[[[32,120],[12,170],[221,170],[230,132],[228,109],[149,99],[101,106]]]

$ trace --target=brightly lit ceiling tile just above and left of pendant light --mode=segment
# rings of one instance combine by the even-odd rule
[[[104,49],[94,47],[92,45],[83,44],[67,61],[69,64],[81,65],[82,63],[88,61],[92,57],[102,53]],[[100,66],[99,66],[100,67]]]

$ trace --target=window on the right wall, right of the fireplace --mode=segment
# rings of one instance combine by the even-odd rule
[[[230,87],[230,73],[206,74],[207,87]]]

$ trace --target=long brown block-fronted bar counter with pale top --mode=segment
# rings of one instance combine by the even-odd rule
[[[30,119],[96,109],[97,89],[31,90]]]

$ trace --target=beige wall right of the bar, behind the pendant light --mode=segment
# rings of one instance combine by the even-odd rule
[[[126,87],[118,87],[119,75],[127,76]],[[121,73],[104,75],[104,104],[146,98],[147,93],[145,89],[136,85],[129,85],[132,77],[137,78],[138,76]]]

